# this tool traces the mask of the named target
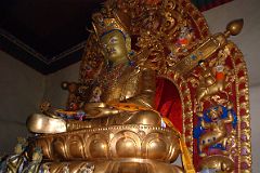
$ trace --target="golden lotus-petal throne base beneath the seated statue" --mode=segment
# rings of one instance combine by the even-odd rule
[[[177,132],[152,125],[112,125],[39,135],[29,148],[41,147],[51,172],[94,165],[96,173],[182,172],[170,164],[180,155]],[[72,161],[74,160],[74,161]]]

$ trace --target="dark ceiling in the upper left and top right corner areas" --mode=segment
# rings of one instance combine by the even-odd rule
[[[47,75],[80,61],[104,0],[0,0],[0,50]],[[202,11],[231,0],[193,0]]]

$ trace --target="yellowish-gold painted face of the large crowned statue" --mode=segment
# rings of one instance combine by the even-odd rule
[[[120,62],[127,58],[126,39],[119,30],[113,30],[101,38],[105,57],[113,62]]]

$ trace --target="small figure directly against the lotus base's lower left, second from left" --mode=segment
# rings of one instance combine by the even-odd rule
[[[40,171],[42,160],[42,150],[36,147],[32,152],[31,161],[23,169],[22,173],[38,173]]]

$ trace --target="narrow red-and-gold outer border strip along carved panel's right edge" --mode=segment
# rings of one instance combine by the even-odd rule
[[[249,117],[249,101],[248,101],[248,75],[246,64],[243,59],[242,52],[232,43],[233,45],[233,58],[232,63],[235,68],[236,75],[236,102],[237,102],[237,116],[239,117],[238,121],[238,160],[239,169],[245,172],[251,171],[251,144],[250,144],[250,117]],[[239,80],[243,79],[243,80]],[[243,90],[244,92],[239,92]]]

